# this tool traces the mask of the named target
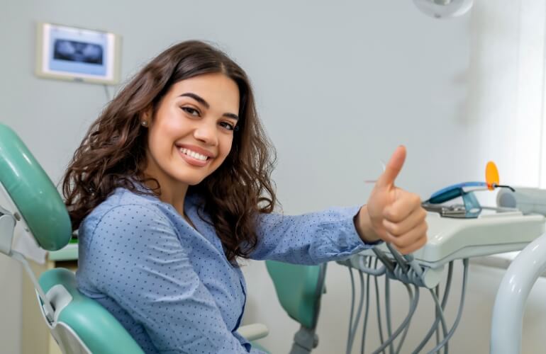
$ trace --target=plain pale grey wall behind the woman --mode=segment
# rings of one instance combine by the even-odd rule
[[[153,6],[135,1],[96,0],[82,6],[77,1],[4,0],[0,121],[21,135],[57,182],[89,123],[106,104],[101,86],[33,75],[35,21],[118,33],[123,38],[124,78],[174,42],[204,39],[226,50],[252,79],[259,112],[277,147],[274,180],[284,212],[366,202],[371,187],[364,179],[381,172],[379,159],[388,159],[398,144],[408,147],[399,185],[425,198],[449,183],[482,178],[488,156],[479,153],[484,149],[479,127],[497,101],[491,97],[484,108],[471,95],[477,77],[479,89],[486,92],[491,83],[504,82],[479,76],[487,62],[482,67],[477,60],[488,59],[479,52],[486,44],[479,35],[491,30],[480,25],[486,15],[478,6],[472,15],[436,21],[419,13],[411,1],[396,0],[160,1]],[[499,33],[511,35],[510,28]],[[494,129],[510,134],[502,125]],[[506,169],[512,167],[506,164]],[[12,286],[0,293],[0,343],[6,353],[18,353],[21,271],[1,257],[0,270],[1,284]],[[491,303],[501,274],[472,270],[467,308],[452,341],[454,353],[488,348]],[[272,333],[262,343],[273,353],[285,353],[296,324],[277,304],[263,263],[252,262],[245,274],[250,290],[245,321],[268,324]],[[318,354],[342,351],[347,331],[347,270],[330,265],[327,286]],[[544,294],[546,289],[537,291]],[[406,304],[403,292],[394,301]],[[546,321],[538,314],[545,310],[540,303],[531,305],[533,328],[542,328]],[[428,302],[423,301],[426,314],[425,306]],[[411,343],[417,343],[418,333],[429,324],[423,316],[415,319]],[[370,329],[370,337],[377,338],[373,333]],[[527,353],[542,348],[535,331],[525,333],[534,335],[525,344]]]

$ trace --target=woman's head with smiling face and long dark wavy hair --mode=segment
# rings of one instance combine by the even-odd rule
[[[217,130],[210,129],[213,122]],[[196,166],[201,159],[182,149],[212,155],[211,161]],[[182,42],[147,64],[91,125],[63,183],[72,226],[77,229],[116,188],[161,196],[179,211],[186,193],[195,193],[204,198],[206,212],[215,210],[211,222],[234,261],[257,243],[252,215],[274,209],[271,156],[243,69],[203,42]]]

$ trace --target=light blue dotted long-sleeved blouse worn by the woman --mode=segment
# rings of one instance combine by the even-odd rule
[[[172,205],[116,189],[79,228],[79,290],[108,309],[145,353],[261,353],[237,333],[245,279],[197,215],[198,199],[184,205],[194,229]],[[260,215],[251,258],[298,264],[347,258],[369,247],[355,230],[357,211]]]

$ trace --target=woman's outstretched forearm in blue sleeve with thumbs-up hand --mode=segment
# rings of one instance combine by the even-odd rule
[[[379,241],[391,242],[402,253],[419,249],[427,241],[426,212],[418,195],[394,185],[405,159],[406,148],[396,149],[360,208],[298,217],[261,215],[251,258],[315,264],[346,258]]]

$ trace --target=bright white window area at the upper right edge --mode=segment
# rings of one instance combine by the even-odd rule
[[[474,152],[501,182],[546,186],[545,1],[476,1],[469,101],[464,119]]]

